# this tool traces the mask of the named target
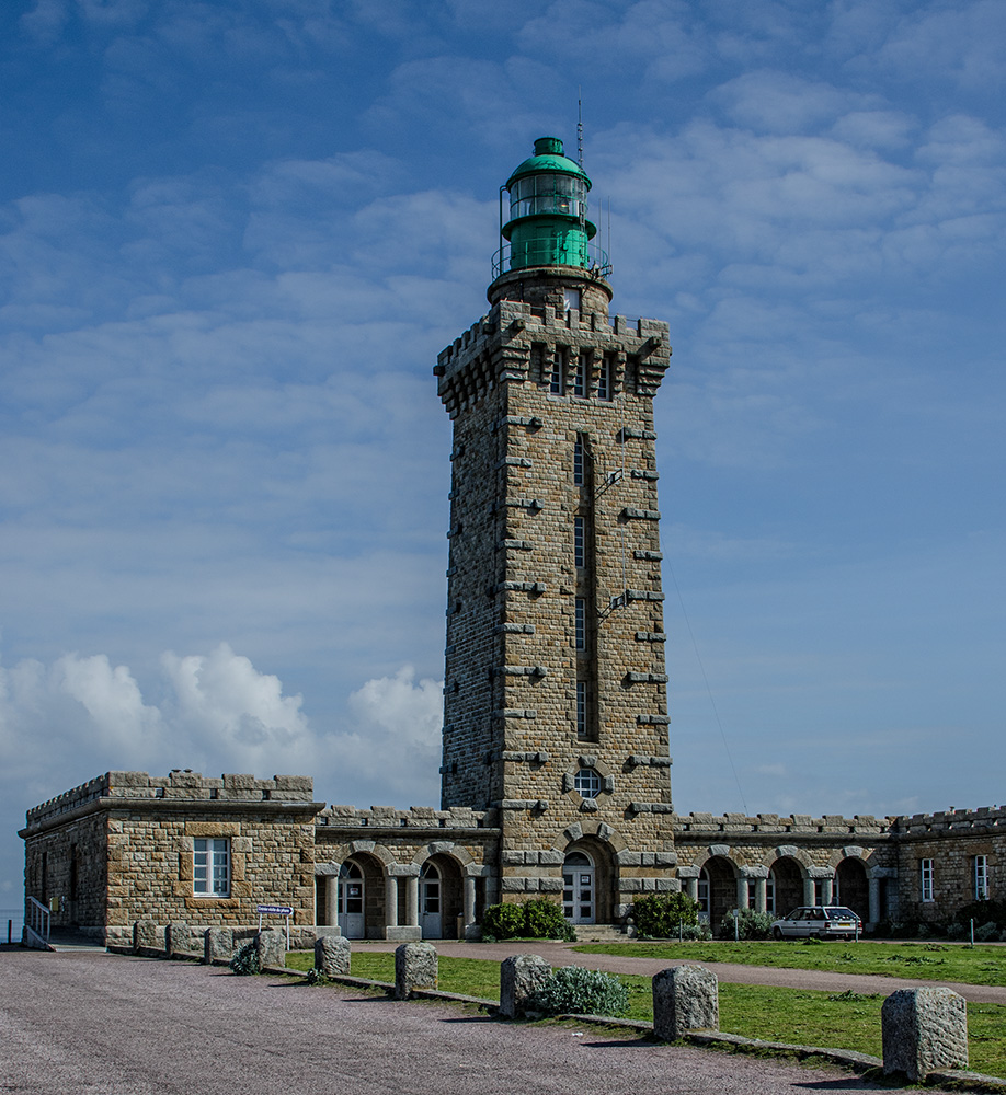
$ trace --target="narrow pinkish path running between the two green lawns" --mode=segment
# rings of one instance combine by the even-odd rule
[[[396,943],[363,943],[353,941],[354,950],[393,950]],[[653,977],[668,966],[683,966],[697,958],[627,958],[616,955],[585,955],[572,950],[575,943],[454,943],[449,940],[435,944],[445,958],[494,958],[502,961],[519,950],[541,955],[552,966],[585,966],[605,969],[609,973],[640,973]],[[961,984],[958,981],[923,981],[903,977],[878,977],[871,973],[833,973],[827,970],[780,969],[776,966],[740,966],[725,961],[702,961],[721,981],[731,984],[774,984],[787,989],[823,989],[826,992],[879,992],[887,996],[898,989],[916,989],[919,986],[945,986],[959,992],[965,1000],[980,1004],[1006,1004],[1006,986]]]

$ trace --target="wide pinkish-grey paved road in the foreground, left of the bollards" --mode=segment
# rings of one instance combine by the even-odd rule
[[[33,1095],[831,1095],[837,1071],[524,1026],[217,967],[0,954],[0,1091]],[[888,1092],[890,1090],[888,1088]],[[934,1090],[935,1091],[935,1090]]]

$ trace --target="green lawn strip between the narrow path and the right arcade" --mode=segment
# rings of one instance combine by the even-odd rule
[[[673,958],[687,961],[733,961],[742,966],[833,970],[836,973],[877,973],[919,981],[960,981],[964,984],[1006,984],[1006,947],[945,943],[591,943],[574,948],[583,954],[629,958]]]

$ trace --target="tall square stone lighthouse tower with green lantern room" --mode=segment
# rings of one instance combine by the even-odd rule
[[[653,397],[667,324],[610,315],[591,181],[505,184],[490,310],[438,357],[454,422],[442,798],[500,811],[504,900],[574,923],[676,889]]]

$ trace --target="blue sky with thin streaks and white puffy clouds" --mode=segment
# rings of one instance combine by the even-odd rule
[[[674,345],[678,809],[997,804],[1004,41],[1002,0],[3,4],[0,904],[107,769],[436,802],[431,370],[581,85],[614,307]]]

